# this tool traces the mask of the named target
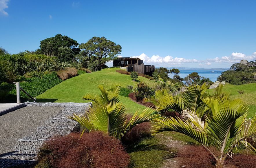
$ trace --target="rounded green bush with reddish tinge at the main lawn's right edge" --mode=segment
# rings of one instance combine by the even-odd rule
[[[137,101],[142,100],[144,97],[152,96],[154,93],[155,91],[144,82],[139,82],[137,84],[135,92]]]

